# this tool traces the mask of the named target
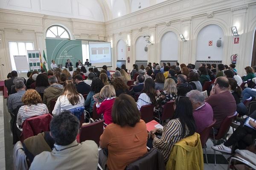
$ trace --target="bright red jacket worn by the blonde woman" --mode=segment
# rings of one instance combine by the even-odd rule
[[[112,123],[112,107],[115,102],[116,98],[113,99],[105,99],[102,104],[100,105],[99,108],[97,108],[97,113],[102,114],[103,113],[103,118],[105,120],[105,124],[109,125]]]

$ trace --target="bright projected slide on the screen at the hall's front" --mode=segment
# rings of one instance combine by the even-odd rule
[[[89,41],[90,63],[96,67],[111,67],[111,43]]]

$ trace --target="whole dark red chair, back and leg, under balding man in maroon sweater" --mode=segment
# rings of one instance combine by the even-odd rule
[[[212,127],[213,133],[209,136],[210,139],[213,140],[213,145],[215,146],[215,140],[222,139],[224,136],[226,136],[227,131],[230,129],[231,123],[234,119],[236,119],[237,112],[235,112],[233,115],[227,116],[221,123],[221,126],[218,130],[217,135],[214,135],[214,128]],[[216,151],[214,150],[214,162],[216,166]]]

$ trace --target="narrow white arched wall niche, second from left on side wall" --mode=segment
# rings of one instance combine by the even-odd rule
[[[146,52],[145,46],[147,42],[143,36],[140,36],[136,41],[136,60],[148,60],[148,52]]]

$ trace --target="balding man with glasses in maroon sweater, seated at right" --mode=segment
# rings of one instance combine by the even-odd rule
[[[213,118],[216,119],[213,126],[216,134],[222,121],[236,111],[236,101],[228,88],[229,81],[226,77],[216,78],[210,96],[205,101],[212,106]]]

